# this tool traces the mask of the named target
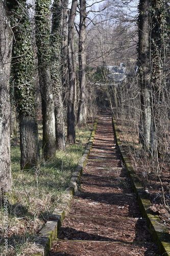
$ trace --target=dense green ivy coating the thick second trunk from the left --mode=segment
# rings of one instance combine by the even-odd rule
[[[35,79],[32,26],[26,1],[10,5],[10,18],[14,34],[11,88],[14,88],[17,110],[25,116],[35,116]],[[16,4],[17,3],[17,4]]]

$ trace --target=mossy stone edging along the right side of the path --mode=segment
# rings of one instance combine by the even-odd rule
[[[162,225],[158,215],[153,215],[153,212],[149,209],[149,207],[152,206],[151,201],[149,200],[147,192],[143,189],[142,184],[123,149],[122,142],[119,139],[118,129],[114,117],[112,117],[112,124],[116,135],[117,146],[120,150],[122,160],[128,170],[128,176],[131,180],[134,192],[137,194],[142,216],[147,220],[151,238],[153,242],[158,245],[161,255],[170,256],[170,234],[168,233],[166,227]]]

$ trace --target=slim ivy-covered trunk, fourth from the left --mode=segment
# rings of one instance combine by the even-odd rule
[[[52,6],[52,35],[51,35],[51,75],[53,95],[55,100],[56,119],[56,147],[57,150],[65,149],[65,123],[62,102],[61,79],[61,17],[62,5],[60,0],[54,0]]]

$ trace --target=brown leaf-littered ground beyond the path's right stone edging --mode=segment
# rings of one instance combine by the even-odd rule
[[[159,171],[154,168],[152,157],[144,153],[138,143],[138,127],[133,120],[115,119],[119,138],[142,186],[152,202],[151,210],[157,214],[170,233],[170,172],[169,162],[159,158]]]

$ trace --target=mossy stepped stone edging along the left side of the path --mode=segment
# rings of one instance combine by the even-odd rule
[[[77,182],[79,178],[82,175],[83,167],[86,165],[86,161],[88,159],[88,156],[90,154],[93,141],[94,141],[94,135],[96,126],[98,124],[98,118],[95,119],[93,129],[91,132],[90,140],[87,144],[86,150],[80,159],[77,168],[72,173],[69,186],[66,188],[66,193],[68,194],[66,207],[63,210],[55,209],[53,211],[53,221],[47,221],[44,225],[44,227],[41,229],[41,231],[38,233],[38,237],[35,241],[35,245],[37,247],[37,250],[33,252],[32,254],[29,254],[30,256],[47,256],[48,252],[50,251],[52,247],[52,242],[57,238],[57,233],[59,232],[59,229],[61,227],[62,221],[64,217],[66,216],[66,212],[68,207],[70,206],[71,200],[75,192],[77,191]]]

